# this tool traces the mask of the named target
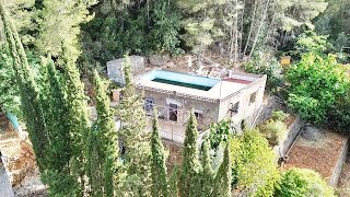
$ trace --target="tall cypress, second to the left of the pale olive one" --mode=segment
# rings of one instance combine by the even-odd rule
[[[86,185],[86,159],[89,134],[91,132],[90,121],[88,118],[88,102],[84,95],[84,85],[80,81],[80,73],[74,63],[74,58],[71,58],[70,50],[63,51],[65,57],[65,89],[67,92],[67,124],[71,138],[70,149],[72,158],[70,160],[71,174],[74,176],[78,187],[71,189],[77,195],[82,195]]]

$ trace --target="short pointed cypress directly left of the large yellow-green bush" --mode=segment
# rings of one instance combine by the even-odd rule
[[[230,142],[228,141],[224,150],[223,161],[219,166],[214,187],[211,194],[212,197],[230,197],[231,196],[231,159],[230,159]]]

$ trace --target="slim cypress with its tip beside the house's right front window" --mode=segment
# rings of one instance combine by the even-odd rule
[[[178,190],[180,197],[188,197],[191,193],[196,193],[198,189],[194,188],[198,186],[197,177],[199,173],[197,138],[197,120],[194,115],[194,112],[191,112],[186,128],[183,164],[178,183]]]

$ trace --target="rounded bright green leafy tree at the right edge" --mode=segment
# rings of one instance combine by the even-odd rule
[[[346,96],[349,84],[345,69],[335,57],[322,58],[315,54],[303,56],[288,70],[287,78],[289,106],[302,118],[315,123],[327,120],[327,111]]]

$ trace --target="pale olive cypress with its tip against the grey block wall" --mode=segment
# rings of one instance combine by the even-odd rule
[[[142,102],[132,84],[131,63],[125,57],[122,63],[125,76],[124,97],[116,108],[121,123],[119,136],[125,148],[124,167],[125,179],[120,181],[120,190],[131,196],[150,196],[151,185],[151,149],[149,136],[145,132],[147,118]]]

